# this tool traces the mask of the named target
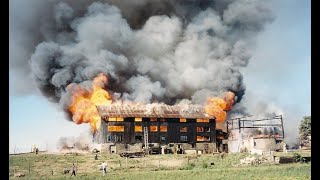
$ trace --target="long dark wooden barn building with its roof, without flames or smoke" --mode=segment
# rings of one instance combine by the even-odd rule
[[[112,104],[97,109],[101,125],[94,141],[108,144],[109,153],[142,149],[150,153],[212,153],[221,144],[216,118],[201,106]]]

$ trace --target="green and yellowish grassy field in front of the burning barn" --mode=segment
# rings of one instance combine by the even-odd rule
[[[126,159],[118,155],[99,154],[99,159],[94,160],[92,154],[9,155],[9,177],[70,179],[70,174],[63,174],[63,170],[75,163],[76,179],[311,179],[311,163],[235,166],[247,156],[168,154]],[[103,160],[109,164],[105,177],[100,170]],[[25,177],[14,177],[14,173],[23,173]]]

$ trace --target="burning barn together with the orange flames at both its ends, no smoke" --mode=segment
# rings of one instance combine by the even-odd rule
[[[107,78],[94,78],[92,90],[70,85],[68,107],[72,120],[90,123],[95,143],[109,153],[142,151],[151,153],[212,153],[220,147],[223,133],[216,122],[224,123],[235,99],[231,91],[223,97],[209,97],[205,106],[141,104],[117,101],[103,89]],[[106,146],[106,147],[105,147]]]

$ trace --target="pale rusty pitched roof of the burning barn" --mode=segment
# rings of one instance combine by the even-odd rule
[[[215,119],[214,116],[208,115],[202,106],[196,105],[169,106],[164,104],[112,104],[107,106],[97,106],[97,109],[101,117]]]

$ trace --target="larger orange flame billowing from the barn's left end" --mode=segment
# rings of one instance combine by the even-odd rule
[[[72,92],[69,111],[72,113],[73,122],[76,124],[90,123],[92,132],[100,128],[101,118],[96,106],[112,103],[110,94],[103,89],[106,84],[107,77],[100,73],[94,78],[91,90],[74,84],[68,86]]]

